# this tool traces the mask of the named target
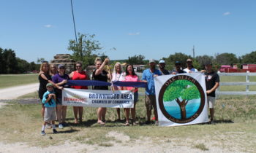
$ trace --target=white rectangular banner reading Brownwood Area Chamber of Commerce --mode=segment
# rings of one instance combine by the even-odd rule
[[[62,90],[62,104],[65,106],[133,108],[133,101],[134,95],[129,90]]]

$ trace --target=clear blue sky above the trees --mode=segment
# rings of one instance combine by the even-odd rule
[[[1,48],[29,62],[72,54],[70,0],[0,2]],[[245,55],[256,50],[255,6],[255,0],[73,0],[77,32],[95,34],[110,60],[192,55],[193,45],[195,55]]]

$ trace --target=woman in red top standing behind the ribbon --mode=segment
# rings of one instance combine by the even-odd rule
[[[69,78],[72,80],[83,80],[87,79],[89,80],[89,76],[86,74],[86,71],[83,71],[83,66],[81,62],[75,63],[76,71],[72,71],[71,74],[69,74]],[[75,89],[85,89],[87,90],[87,86],[72,86],[72,88]],[[75,116],[75,124],[78,123],[78,114],[79,114],[79,122],[81,123],[83,121],[83,106],[73,106],[74,116]]]

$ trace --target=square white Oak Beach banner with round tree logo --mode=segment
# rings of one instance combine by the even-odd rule
[[[202,73],[157,76],[154,83],[160,126],[208,122],[206,81]]]

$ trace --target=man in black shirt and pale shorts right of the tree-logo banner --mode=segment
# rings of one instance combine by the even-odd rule
[[[206,71],[206,94],[207,102],[210,108],[210,123],[214,124],[214,104],[215,104],[215,90],[219,87],[219,75],[212,69],[212,63],[205,63]]]

